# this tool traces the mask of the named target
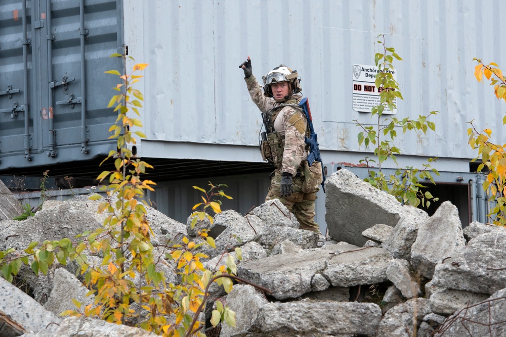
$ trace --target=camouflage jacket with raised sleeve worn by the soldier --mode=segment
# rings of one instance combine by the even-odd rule
[[[257,82],[254,75],[246,77],[244,80],[246,81],[251,100],[255,102],[263,113],[270,112],[272,109],[283,104],[277,103],[273,98],[265,97],[262,86]],[[302,97],[301,95],[292,95],[290,97],[291,100],[294,100],[292,104],[298,105]],[[295,176],[302,161],[308,157],[306,143],[304,142],[307,128],[306,118],[302,109],[296,107],[286,106],[279,109],[278,112],[276,118],[282,118],[281,124],[284,128],[282,130],[284,132],[279,132],[281,136],[284,136],[284,149],[281,167],[277,167],[277,169],[280,169],[281,172],[289,172],[292,176]]]

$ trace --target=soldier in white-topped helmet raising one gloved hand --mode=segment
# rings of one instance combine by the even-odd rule
[[[267,137],[261,143],[262,157],[275,167],[265,201],[279,199],[295,214],[301,229],[320,234],[314,216],[321,179],[314,179],[314,174],[321,178],[321,163],[315,162],[316,165],[309,167],[306,160],[308,148],[304,138],[309,136],[309,128],[299,107],[302,95],[298,93],[302,88],[297,71],[284,65],[274,68],[262,77],[262,92],[262,86],[252,74],[249,56],[239,67],[244,70],[251,99],[272,126],[271,131],[266,130]],[[306,179],[306,176],[311,178]]]

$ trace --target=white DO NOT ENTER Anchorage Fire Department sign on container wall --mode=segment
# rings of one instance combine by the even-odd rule
[[[397,72],[395,69],[383,69],[382,72],[389,72],[392,77],[397,80]],[[363,64],[355,64],[352,68],[353,79],[353,110],[358,112],[371,112],[371,109],[379,105],[379,93],[381,88],[376,88],[374,84],[376,74],[379,72],[376,66],[366,66]],[[396,103],[396,100],[394,100]],[[383,111],[386,115],[395,115],[397,109],[391,111],[385,107]]]

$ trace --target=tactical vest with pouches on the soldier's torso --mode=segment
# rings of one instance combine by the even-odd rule
[[[302,108],[299,106],[299,101],[297,99],[290,99],[285,101],[283,104],[280,104],[279,106],[271,109],[268,112],[269,119],[271,122],[272,130],[274,130],[274,121],[276,120],[276,117],[279,115],[279,112],[284,107],[293,107],[298,110],[302,110]],[[304,122],[296,122],[294,126],[301,132],[301,130],[305,127],[306,132],[305,136],[309,137],[309,126],[307,125],[306,116],[302,114]],[[293,115],[293,119],[297,119],[298,115]],[[302,132],[301,132],[302,133]],[[279,132],[273,131],[271,133],[267,133],[267,139],[261,142],[260,151],[262,153],[262,158],[273,164],[277,169],[281,169],[282,163],[283,163],[283,151],[284,151],[284,145],[285,145],[285,137],[284,135],[280,135]],[[306,145],[306,151],[309,150]]]

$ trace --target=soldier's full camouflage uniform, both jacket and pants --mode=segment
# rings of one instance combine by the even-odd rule
[[[304,165],[307,165],[308,150],[304,137],[307,130],[307,122],[302,109],[298,108],[302,100],[301,95],[291,97],[277,103],[273,98],[265,97],[262,86],[257,82],[254,75],[245,77],[251,99],[263,113],[269,113],[275,131],[281,136],[282,158],[274,158],[274,176],[271,178],[271,186],[265,201],[279,199],[290,211],[292,211],[300,228],[320,232],[319,226],[314,222],[316,194],[305,194],[302,191],[304,182]],[[291,106],[293,105],[293,106]],[[282,108],[279,108],[279,107]],[[278,109],[276,109],[278,108]],[[293,192],[290,196],[282,198],[280,193],[281,173],[289,172],[293,177]]]

